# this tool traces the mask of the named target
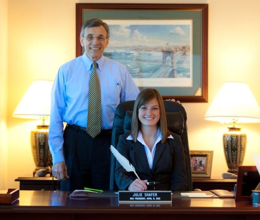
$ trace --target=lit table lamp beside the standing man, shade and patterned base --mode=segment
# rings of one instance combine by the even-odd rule
[[[42,124],[36,125],[31,131],[31,151],[35,162],[35,173],[45,176],[51,173],[52,157],[49,151],[49,125],[45,120],[50,115],[50,96],[52,80],[35,80],[28,88],[20,103],[13,112],[13,117],[41,119]]]

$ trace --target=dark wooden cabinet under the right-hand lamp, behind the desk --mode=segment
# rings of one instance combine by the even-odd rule
[[[225,189],[234,191],[236,179],[211,179],[211,178],[192,178],[192,189],[209,191],[212,189]]]

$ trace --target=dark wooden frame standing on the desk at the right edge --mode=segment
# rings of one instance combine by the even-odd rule
[[[238,166],[235,201],[251,201],[251,193],[260,183],[256,166]]]

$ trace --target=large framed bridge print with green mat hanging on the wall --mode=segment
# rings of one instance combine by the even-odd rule
[[[100,18],[110,36],[104,56],[126,66],[141,90],[163,99],[208,101],[208,4],[76,3],[76,56],[82,24]]]

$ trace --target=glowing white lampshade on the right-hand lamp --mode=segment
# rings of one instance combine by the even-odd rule
[[[204,119],[220,123],[258,123],[260,108],[246,83],[226,82],[207,110]]]

